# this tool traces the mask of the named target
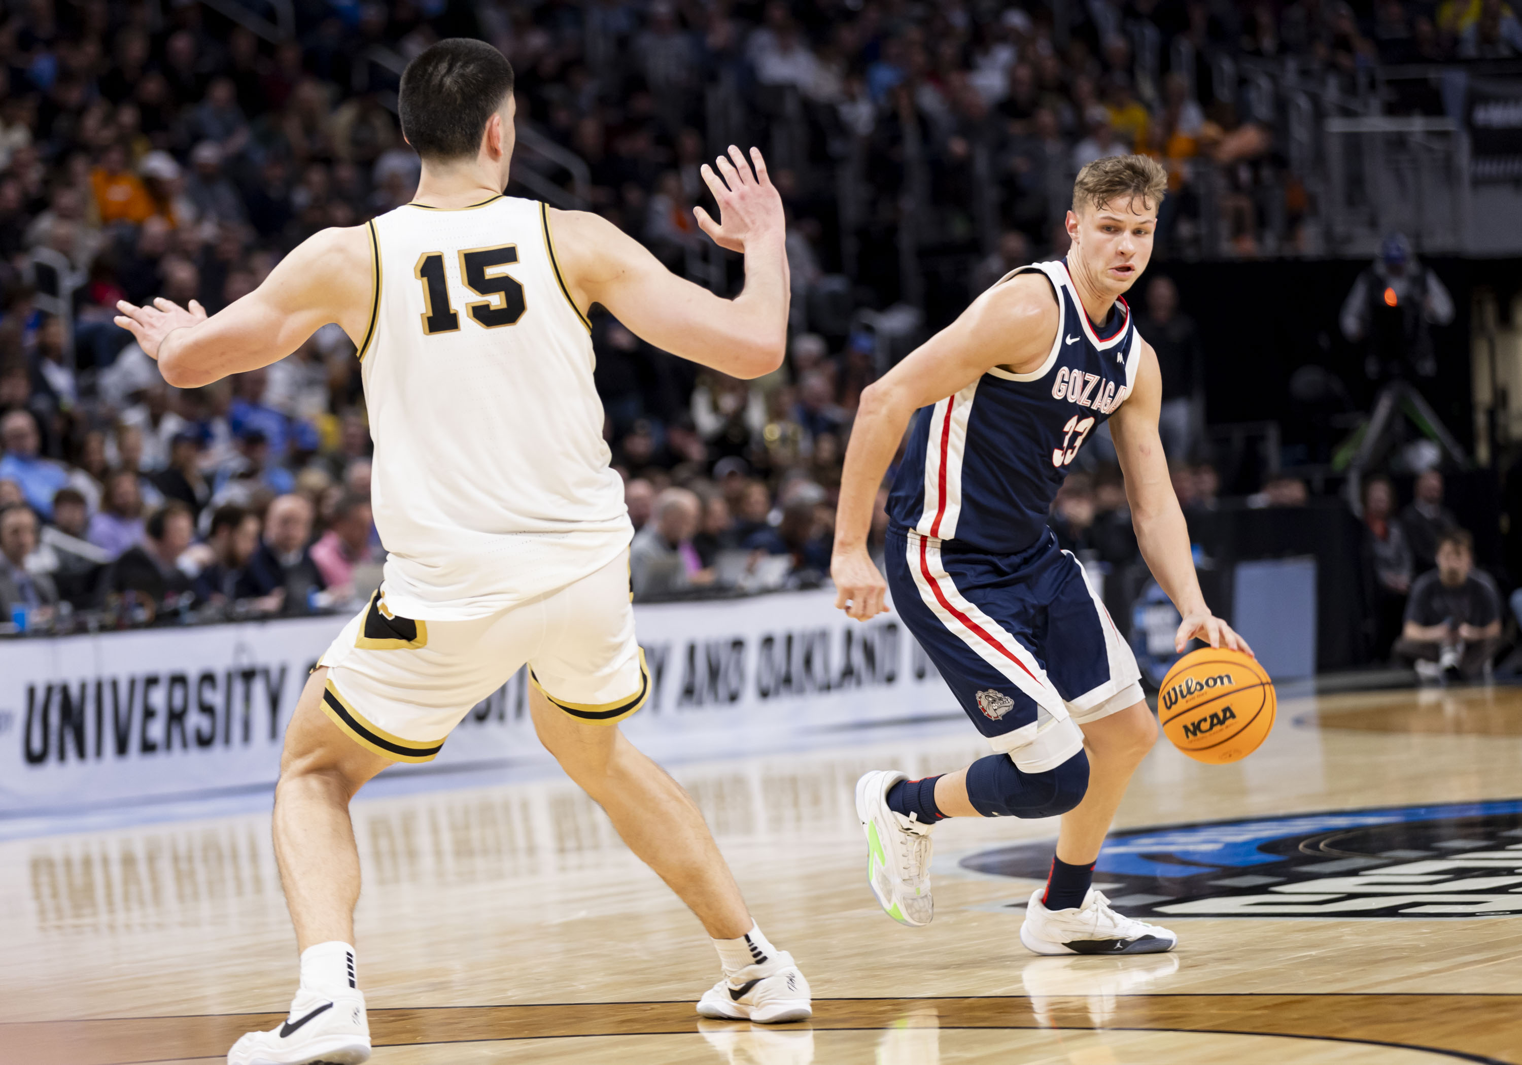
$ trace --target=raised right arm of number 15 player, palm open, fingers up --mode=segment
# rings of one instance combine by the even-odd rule
[[[787,351],[782,198],[755,148],[747,161],[731,146],[702,173],[720,221],[697,207],[697,224],[714,243],[746,257],[746,286],[734,300],[677,277],[638,240],[586,211],[549,211],[556,254],[583,313],[600,303],[664,351],[732,377],[759,377],[782,365]]]

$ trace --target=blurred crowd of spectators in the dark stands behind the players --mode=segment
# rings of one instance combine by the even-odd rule
[[[753,143],[782,190],[794,286],[782,370],[726,379],[594,316],[641,598],[820,583],[861,389],[1008,269],[1064,254],[1073,175],[1117,152],[1170,173],[1160,265],[1134,304],[1163,362],[1186,508],[1329,496],[1278,453],[1251,469],[1222,458],[1205,417],[1219,351],[1181,309],[1169,263],[1320,256],[1335,239],[1379,248],[1336,344],[1377,356],[1374,386],[1423,351],[1432,364],[1441,344],[1423,330],[1447,326],[1454,300],[1411,240],[1379,245],[1379,219],[1341,237],[1326,224],[1336,190],[1303,126],[1356,108],[1467,122],[1481,82],[1454,70],[1478,79],[1522,53],[1502,0],[17,0],[0,12],[0,625],[33,631],[347,609],[374,589],[384,546],[350,339],[324,327],[268,370],[174,389],[111,315],[119,298],[154,297],[216,312],[317,230],[405,204],[419,163],[396,87],[441,37],[492,41],[517,70],[510,193],[595,210],[700,285],[743,278],[693,222],[699,166]],[[1387,76],[1420,64],[1447,65]],[[1415,306],[1403,329],[1428,339],[1385,358],[1364,304],[1377,316],[1396,288]],[[1310,452],[1303,464],[1326,458]],[[1367,519],[1374,542],[1406,529],[1412,549],[1397,580],[1390,566],[1370,577],[1380,618],[1400,607],[1379,596],[1403,596],[1435,564],[1435,534],[1412,514],[1441,508],[1441,487],[1411,478],[1440,461],[1397,464],[1415,510],[1397,514],[1391,498],[1388,522]],[[1110,572],[1135,566],[1105,438],[1082,467],[1058,536]],[[884,523],[880,507],[878,543]]]

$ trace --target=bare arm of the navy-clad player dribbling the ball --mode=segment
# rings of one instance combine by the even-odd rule
[[[1195,575],[1195,558],[1189,546],[1189,526],[1173,494],[1167,473],[1167,456],[1157,434],[1158,409],[1163,403],[1163,374],[1151,344],[1142,344],[1142,365],[1137,367],[1135,388],[1110,418],[1116,455],[1126,479],[1131,522],[1137,543],[1152,577],[1184,616],[1173,645],[1183,651],[1189,641],[1199,637],[1210,647],[1230,647],[1253,653],[1247,641],[1210,613]]]

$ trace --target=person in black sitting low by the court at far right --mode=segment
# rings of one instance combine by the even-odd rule
[[[1481,676],[1501,645],[1501,596],[1475,572],[1475,542],[1464,529],[1438,537],[1437,569],[1411,586],[1394,653],[1423,680]]]

